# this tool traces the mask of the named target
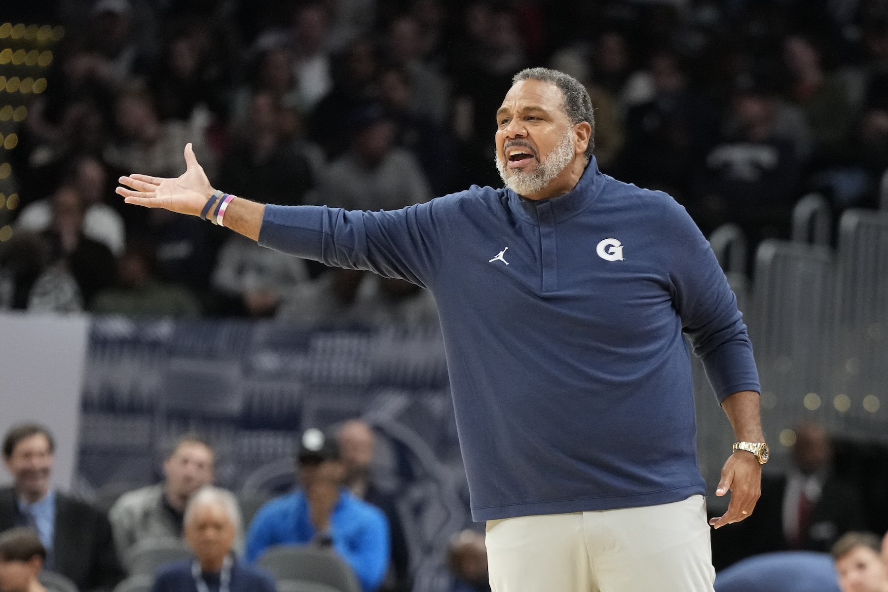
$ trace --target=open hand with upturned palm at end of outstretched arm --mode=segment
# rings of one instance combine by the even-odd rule
[[[213,188],[210,179],[194,156],[191,144],[185,146],[187,170],[177,178],[130,175],[119,179],[126,187],[117,187],[116,193],[123,195],[124,201],[146,208],[163,208],[179,214],[200,216],[203,206]]]

